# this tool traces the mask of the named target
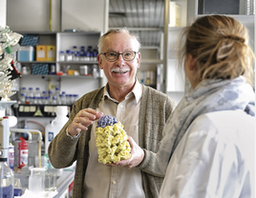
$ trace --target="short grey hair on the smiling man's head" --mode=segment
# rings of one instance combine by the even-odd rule
[[[129,30],[127,30],[125,27],[117,30],[108,30],[106,33],[104,33],[99,39],[98,39],[98,44],[97,44],[97,49],[98,53],[102,52],[103,45],[104,45],[104,39],[111,33],[127,33],[129,34],[132,38],[134,38],[138,44],[138,51],[140,49],[140,43],[139,43],[139,36],[136,34],[131,33]]]

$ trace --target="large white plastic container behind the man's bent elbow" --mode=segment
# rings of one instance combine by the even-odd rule
[[[48,153],[48,147],[53,138],[57,135],[60,129],[68,122],[67,117],[68,107],[67,106],[57,106],[56,117],[51,124],[47,125],[45,128],[45,153]]]

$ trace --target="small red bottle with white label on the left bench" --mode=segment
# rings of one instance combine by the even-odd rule
[[[19,139],[21,142],[18,144],[19,146],[18,168],[23,168],[28,165],[29,143],[26,143],[26,140],[22,137],[20,137]]]

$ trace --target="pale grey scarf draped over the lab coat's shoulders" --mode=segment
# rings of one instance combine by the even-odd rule
[[[182,98],[167,120],[157,153],[160,168],[165,171],[186,129],[199,116],[207,112],[243,109],[254,116],[255,94],[245,78],[203,81]]]

